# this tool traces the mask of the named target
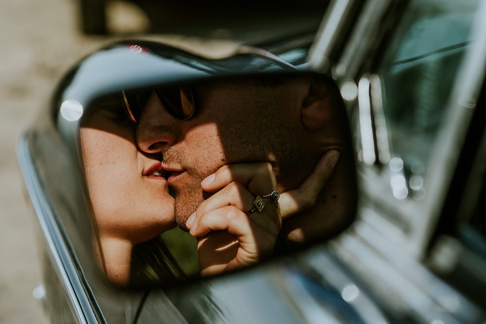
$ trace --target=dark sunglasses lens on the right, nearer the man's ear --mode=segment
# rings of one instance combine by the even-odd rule
[[[194,97],[191,87],[156,87],[156,93],[164,107],[178,119],[188,119],[194,114]]]

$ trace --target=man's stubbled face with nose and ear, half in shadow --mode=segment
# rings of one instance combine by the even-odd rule
[[[175,194],[175,218],[181,228],[206,199],[201,181],[225,164],[268,161],[280,190],[298,187],[312,143],[305,136],[301,105],[305,83],[296,78],[263,85],[254,78],[225,79],[194,88],[197,112],[174,118],[152,95],[137,128],[139,148],[162,153]],[[312,163],[312,162],[309,162]],[[300,174],[302,173],[302,174]]]

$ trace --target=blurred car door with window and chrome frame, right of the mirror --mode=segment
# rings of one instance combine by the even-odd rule
[[[336,1],[333,10],[311,65],[347,99],[363,198],[336,254],[404,319],[484,320],[485,4]]]

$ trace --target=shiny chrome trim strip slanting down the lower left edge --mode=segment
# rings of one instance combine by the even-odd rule
[[[71,255],[69,244],[62,235],[54,216],[54,211],[45,195],[41,180],[37,174],[33,157],[29,150],[27,134],[20,137],[17,143],[17,159],[20,171],[25,182],[27,192],[35,210],[37,221],[44,234],[44,239],[50,252],[52,261],[55,263],[57,274],[73,311],[79,323],[106,323],[103,313],[95,299],[90,299],[85,290],[92,292],[86,283],[86,278],[77,269],[75,256]],[[95,310],[93,309],[96,308]]]

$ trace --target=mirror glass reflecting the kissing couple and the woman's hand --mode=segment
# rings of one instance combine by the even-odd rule
[[[328,78],[120,89],[80,121],[98,264],[172,285],[284,255],[354,219],[347,116]]]

